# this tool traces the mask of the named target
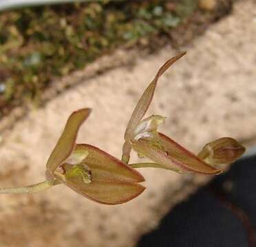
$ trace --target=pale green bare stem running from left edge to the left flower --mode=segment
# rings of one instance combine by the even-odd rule
[[[58,184],[59,182],[56,180],[45,180],[44,182],[24,187],[0,188],[0,193],[36,193],[50,189],[54,185]]]

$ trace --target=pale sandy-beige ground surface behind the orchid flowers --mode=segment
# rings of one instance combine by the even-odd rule
[[[188,54],[162,77],[148,115],[167,116],[166,133],[193,152],[219,137],[256,137],[256,2],[238,1],[231,16],[184,47]],[[1,133],[2,187],[44,179],[44,164],[73,110],[93,108],[78,136],[120,157],[122,135],[138,97],[158,67],[177,54],[164,47],[65,91],[45,108]],[[87,71],[83,71],[87,73]],[[0,123],[1,125],[1,123]],[[138,160],[136,155],[133,161]],[[162,215],[206,183],[209,176],[184,176],[141,169],[147,189],[127,204],[91,202],[65,186],[34,195],[1,195],[0,246],[134,246]]]

